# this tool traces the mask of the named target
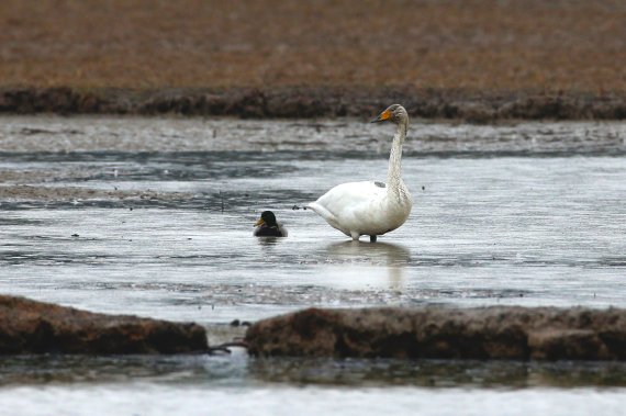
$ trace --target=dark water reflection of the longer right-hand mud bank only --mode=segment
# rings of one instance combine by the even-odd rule
[[[474,360],[253,359],[248,371],[264,382],[424,387],[625,386],[619,362]]]

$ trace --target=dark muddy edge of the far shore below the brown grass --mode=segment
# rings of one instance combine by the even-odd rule
[[[134,114],[242,119],[368,117],[392,102],[412,116],[503,120],[626,120],[626,95],[582,92],[468,92],[416,88],[0,90],[0,114]]]

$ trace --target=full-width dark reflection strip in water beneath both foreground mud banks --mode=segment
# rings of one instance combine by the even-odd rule
[[[239,353],[241,352],[241,353]],[[248,359],[234,356],[12,356],[0,358],[0,386],[149,381],[212,386],[316,384],[526,389],[624,387],[623,362],[390,360],[332,358]]]

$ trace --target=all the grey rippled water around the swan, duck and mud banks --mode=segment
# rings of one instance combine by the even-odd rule
[[[384,180],[391,133],[355,120],[3,117],[0,293],[195,321],[213,341],[241,334],[233,319],[305,306],[626,307],[626,125],[414,124],[400,229],[350,243],[301,209],[337,183]],[[251,237],[266,209],[288,238]],[[23,414],[582,415],[626,400],[621,364],[0,361],[0,403]]]

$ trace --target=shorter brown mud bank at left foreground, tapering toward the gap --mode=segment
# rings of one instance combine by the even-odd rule
[[[0,353],[181,353],[208,350],[197,324],[105,315],[0,295]]]

